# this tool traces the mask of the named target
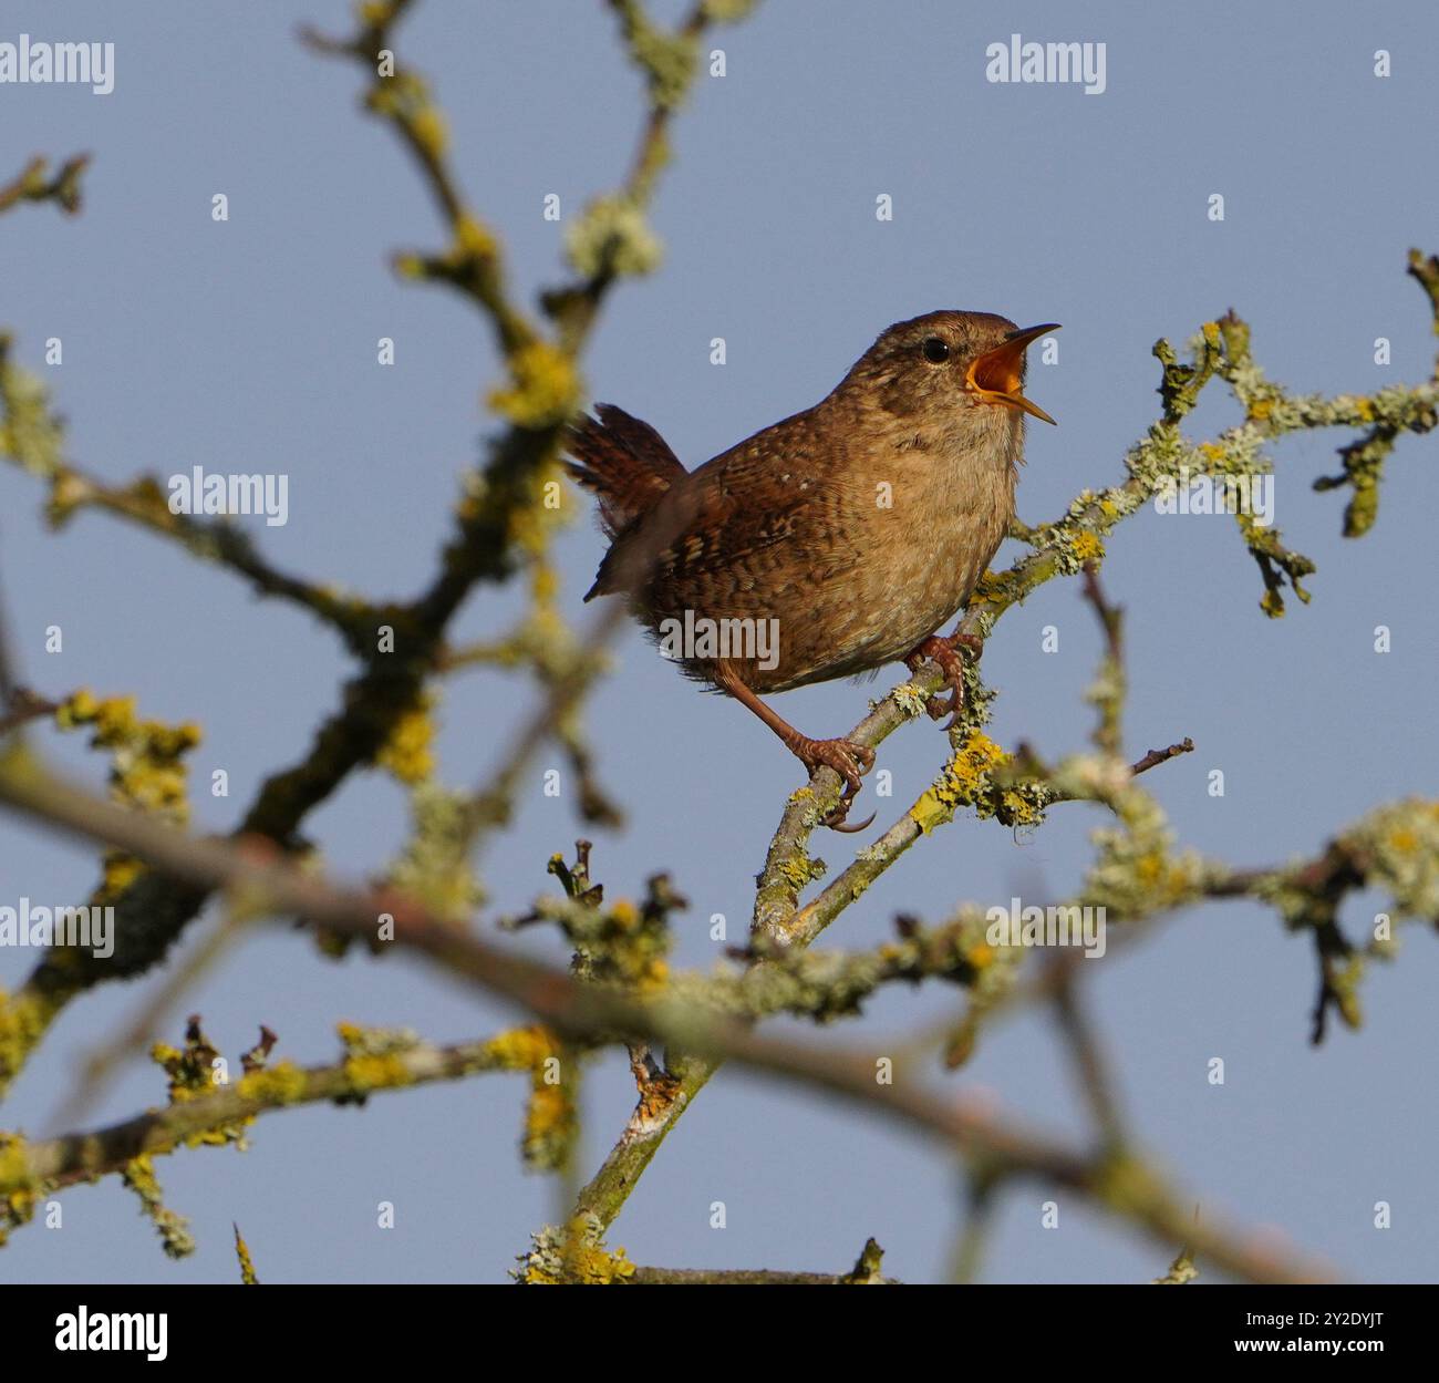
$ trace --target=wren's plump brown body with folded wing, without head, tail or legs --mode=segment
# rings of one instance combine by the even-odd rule
[[[967,317],[993,322],[996,341],[1013,330]],[[734,659],[761,692],[878,668],[935,632],[1003,540],[1023,419],[912,397],[928,380],[904,354],[894,368],[873,355],[814,407],[673,473],[617,532],[593,593],[627,593],[656,633],[686,613],[774,620],[774,666]],[[704,659],[682,666],[712,681]]]

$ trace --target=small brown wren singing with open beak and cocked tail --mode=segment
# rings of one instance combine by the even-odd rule
[[[937,630],[964,606],[1014,514],[1025,350],[990,312],[928,312],[882,332],[820,403],[685,471],[665,439],[613,404],[571,429],[570,473],[599,498],[610,550],[586,600],[622,594],[682,671],[728,692],[810,771],[845,781],[843,826],[873,750],[812,740],[760,692],[925,659],[958,715],[958,648]],[[871,817],[873,820],[873,817]]]

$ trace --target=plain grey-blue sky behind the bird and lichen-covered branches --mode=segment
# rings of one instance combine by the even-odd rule
[[[63,340],[65,364],[45,373],[78,462],[115,481],[193,465],[283,471],[289,522],[256,530],[278,564],[409,594],[429,577],[459,476],[492,427],[481,399],[496,360],[458,299],[390,275],[391,250],[437,245],[440,227],[389,131],[358,112],[355,72],[295,42],[301,20],[348,23],[330,0],[7,7],[0,42],[111,40],[117,56],[108,96],[0,86],[0,174],[33,153],[95,155],[79,219],[20,209],[0,222],[0,324],[35,370],[43,341]],[[987,45],[1016,32],[1104,42],[1107,91],[986,82]],[[653,213],[665,263],[610,299],[587,358],[591,396],[645,417],[696,465],[816,402],[889,322],[934,308],[1059,321],[1059,361],[1030,368],[1029,391],[1059,420],[1030,430],[1019,512],[1038,522],[1081,488],[1121,478],[1124,449],[1156,413],[1156,338],[1183,340],[1229,307],[1250,322],[1258,360],[1292,387],[1426,377],[1433,340],[1403,265],[1412,245],[1439,249],[1436,39],[1439,16],[1392,3],[1363,13],[761,6],[708,45],[725,49],[727,75],[702,78],[678,124]],[[558,193],[568,217],[617,181],[640,118],[639,79],[604,9],[430,3],[401,45],[449,112],[465,187],[504,235],[517,288],[555,282],[564,223],[543,219],[544,196]],[[1393,55],[1387,79],[1373,75],[1376,49]],[[217,191],[230,203],[224,225],[210,219]],[[1216,191],[1222,223],[1206,214]],[[888,223],[873,214],[881,193],[894,199]],[[391,368],[376,366],[383,335],[396,341]],[[717,335],[722,367],[709,364]],[[1374,364],[1377,337],[1393,343],[1387,367]],[[1210,436],[1233,417],[1216,396],[1191,432]],[[1291,602],[1284,620],[1259,612],[1258,573],[1223,518],[1140,514],[1105,564],[1128,610],[1130,747],[1194,738],[1196,753],[1150,787],[1184,843],[1239,863],[1311,853],[1371,806],[1433,792],[1435,443],[1399,443],[1379,522],[1351,543],[1340,537],[1343,496],[1309,489],[1343,440],[1275,449],[1278,522],[1318,563],[1312,604]],[[145,714],[203,722],[196,777],[227,768],[232,796],[197,797],[197,825],[230,829],[335,704],[342,649],[302,613],[260,604],[229,574],[105,517],[45,532],[40,502],[29,478],[0,471],[0,570],[24,676],[49,694],[134,692]],[[587,521],[563,538],[576,619],[600,553]],[[509,593],[485,591],[459,632],[494,633],[514,610]],[[49,625],[65,630],[59,656],[43,652]],[[1048,625],[1061,632],[1058,653],[1040,650]],[[1373,652],[1376,625],[1393,630],[1387,655]],[[1000,692],[991,734],[1050,757],[1081,748],[1097,653],[1076,583],[1050,583],[1012,612],[984,656]],[[837,734],[885,685],[807,688],[777,708],[812,734]],[[504,675],[450,684],[446,779],[481,781],[502,753],[495,727],[518,725],[528,704],[530,688]],[[637,632],[589,724],[600,773],[629,810],[623,833],[596,836],[596,876],[607,894],[633,895],[669,869],[692,901],[678,958],[714,963],[708,920],[724,912],[740,928],[748,917],[796,763],[740,707],[696,695]],[[58,758],[98,781],[98,758],[53,740]],[[943,754],[927,722],[886,741],[895,797],[912,800]],[[540,792],[547,766],[486,859],[486,928],[548,887],[545,861],[578,833],[570,804]],[[1216,767],[1222,799],[1206,790]],[[1066,807],[1016,842],[960,820],[921,842],[825,943],[872,946],[896,911],[938,921],[964,899],[1055,895],[1078,878],[1099,823],[1095,809]],[[403,827],[403,796],[377,774],[309,822],[350,876],[381,866]],[[839,868],[855,845],[826,838],[817,851]],[[91,852],[0,826],[3,901],[78,899],[94,874]],[[1345,921],[1357,928],[1373,911],[1351,899]],[[1436,1266],[1435,943],[1419,927],[1403,935],[1397,961],[1366,983],[1364,1029],[1335,1030],[1318,1051],[1307,1040],[1309,946],[1256,905],[1190,911],[1092,967],[1091,1006],[1144,1144],[1206,1207],[1278,1226],[1370,1281],[1432,1279]],[[538,937],[528,944],[560,956]],[[30,960],[0,953],[0,983],[19,981]],[[0,1124],[56,1131],[47,1121],[78,1058],[144,993],[108,986],[75,1003]],[[953,1006],[937,989],[885,993],[850,1036],[898,1035]],[[283,928],[250,940],[189,996],[190,1010],[232,1055],[265,1022],[302,1062],[335,1053],[338,1019],[437,1040],[511,1020],[403,960],[332,964]],[[955,1085],[1078,1134],[1059,1040],[1043,1015],[1017,1017]],[[1222,1088],[1206,1079],[1216,1055]],[[161,1256],[109,1180],[63,1197],[62,1230],[17,1233],[0,1281],[230,1281],[232,1220],[268,1281],[499,1281],[557,1213],[554,1186],[518,1166],[521,1085],[485,1076],[363,1112],[268,1117],[249,1153],[161,1164],[168,1202],[200,1241],[189,1261]],[[161,1098],[161,1072],[137,1065],[92,1118]],[[630,1104],[623,1062],[602,1062],[581,1171]],[[727,1071],[681,1121],[612,1242],[648,1264],[819,1271],[848,1266],[873,1235],[888,1271],[932,1279],[953,1245],[955,1184],[943,1157],[876,1115]],[[1078,1205],[1042,1229],[1046,1196],[1023,1187],[1006,1200],[987,1279],[1143,1281],[1166,1266],[1164,1251]],[[378,1200],[394,1202],[396,1229],[376,1229]],[[715,1200],[727,1205],[724,1230],[709,1228]],[[1377,1200],[1392,1203],[1392,1229],[1373,1228]]]

